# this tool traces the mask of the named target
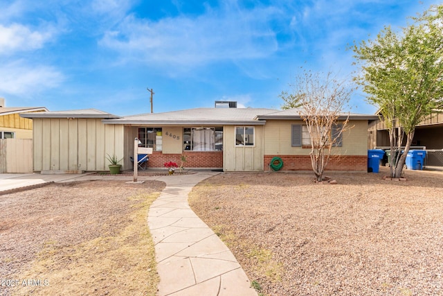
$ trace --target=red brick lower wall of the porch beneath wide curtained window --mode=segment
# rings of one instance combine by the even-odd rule
[[[148,168],[164,168],[165,162],[181,164],[181,155],[186,156],[184,168],[223,168],[223,151],[183,151],[181,154],[163,154],[154,151],[147,162]]]

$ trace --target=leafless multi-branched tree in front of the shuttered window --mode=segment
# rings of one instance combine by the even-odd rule
[[[311,140],[311,165],[317,181],[332,157],[332,148],[341,146],[349,115],[343,112],[354,88],[328,73],[304,71],[296,77],[292,96],[298,98],[300,115]]]

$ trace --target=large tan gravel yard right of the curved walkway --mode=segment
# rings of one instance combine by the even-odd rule
[[[190,204],[260,295],[443,295],[443,173],[221,173]]]

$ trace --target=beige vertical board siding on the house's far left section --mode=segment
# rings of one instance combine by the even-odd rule
[[[36,119],[34,171],[107,171],[125,153],[123,125],[102,119]]]

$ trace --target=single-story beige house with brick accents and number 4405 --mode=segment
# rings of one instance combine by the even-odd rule
[[[234,105],[234,104],[233,104]],[[35,171],[107,171],[107,155],[123,158],[131,169],[134,139],[152,148],[148,167],[165,162],[186,168],[223,171],[267,171],[273,157],[283,171],[310,171],[309,133],[300,110],[262,108],[195,108],[134,116],[115,116],[99,110],[21,114],[34,121]],[[327,169],[366,171],[368,122],[377,116],[349,116],[350,130],[332,148]]]

